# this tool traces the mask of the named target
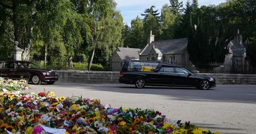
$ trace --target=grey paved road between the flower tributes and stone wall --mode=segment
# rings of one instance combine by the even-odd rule
[[[256,86],[225,85],[208,91],[184,87],[146,87],[125,84],[32,85],[29,92],[53,91],[57,96],[99,98],[112,107],[150,108],[168,119],[181,119],[221,133],[256,133]]]

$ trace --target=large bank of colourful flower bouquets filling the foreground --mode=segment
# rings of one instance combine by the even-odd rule
[[[53,129],[53,130],[51,130]],[[54,93],[0,93],[0,133],[207,133],[167,121],[161,112],[111,108],[100,100]],[[56,132],[58,131],[58,132]],[[218,133],[218,132],[217,132]]]

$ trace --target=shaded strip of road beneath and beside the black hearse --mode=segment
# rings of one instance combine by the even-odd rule
[[[93,91],[106,91],[127,94],[158,94],[168,96],[172,100],[193,101],[226,101],[239,103],[256,103],[256,86],[253,85],[219,85],[209,90],[200,90],[195,87],[159,87],[146,86],[137,89],[134,85],[126,84],[83,84],[56,82],[54,85],[43,87],[65,87]],[[111,94],[111,93],[109,93]]]

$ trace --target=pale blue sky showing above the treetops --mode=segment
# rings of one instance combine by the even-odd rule
[[[115,0],[117,3],[116,9],[121,11],[122,17],[124,18],[124,23],[131,26],[131,20],[139,16],[141,19],[141,13],[145,11],[146,8],[150,8],[152,5],[156,6],[154,10],[158,10],[161,13],[161,8],[164,4],[169,4],[169,0]],[[186,5],[187,0],[183,0],[183,6]],[[225,2],[225,0],[198,0],[199,6],[215,4]]]

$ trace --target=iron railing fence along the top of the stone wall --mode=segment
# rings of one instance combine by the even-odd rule
[[[8,61],[10,59],[3,59],[0,57],[0,61]],[[31,62],[38,64],[38,66],[42,69],[48,70],[88,70],[88,63],[81,61],[73,61],[72,68],[68,65],[67,59],[56,59],[52,61],[48,61],[45,63],[44,60],[31,60]],[[173,64],[177,64],[178,66],[182,66],[189,71],[200,72],[200,73],[240,73],[240,74],[256,74],[256,68],[250,66],[250,64],[223,64],[223,63],[207,63],[202,64],[202,66],[211,66],[211,68],[200,69],[196,68],[192,63],[181,63],[175,62]],[[102,66],[101,64],[92,64],[92,71],[108,71],[108,68]]]

